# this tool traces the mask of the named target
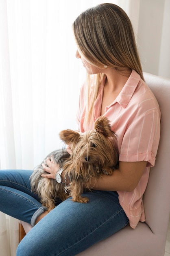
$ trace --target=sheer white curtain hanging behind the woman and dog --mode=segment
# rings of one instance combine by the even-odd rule
[[[102,2],[122,7],[137,35],[140,0],[0,0],[0,169],[33,169],[62,146],[60,130],[76,129],[85,71],[72,22]],[[17,244],[18,221],[0,213],[0,254]]]

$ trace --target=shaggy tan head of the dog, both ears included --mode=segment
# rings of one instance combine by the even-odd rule
[[[72,159],[85,165],[96,167],[116,166],[118,154],[114,148],[116,134],[111,130],[107,117],[99,117],[94,124],[94,130],[76,132],[62,130],[59,137],[65,144],[72,147]],[[82,168],[81,168],[82,169]]]

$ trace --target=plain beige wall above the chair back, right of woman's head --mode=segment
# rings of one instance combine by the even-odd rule
[[[170,78],[170,0],[140,0],[137,11],[143,70]]]

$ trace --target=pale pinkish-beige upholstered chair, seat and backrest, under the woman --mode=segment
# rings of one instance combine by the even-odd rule
[[[156,163],[150,171],[144,209],[146,223],[127,226],[78,256],[164,256],[170,216],[170,79],[144,73],[161,109],[161,138]],[[30,225],[24,223],[26,233]]]

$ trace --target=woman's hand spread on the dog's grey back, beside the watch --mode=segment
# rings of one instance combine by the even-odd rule
[[[59,164],[56,164],[56,162],[54,162],[53,157],[51,157],[51,159],[47,158],[45,162],[48,166],[46,166],[45,164],[42,164],[42,166],[43,166],[44,171],[46,171],[49,174],[41,174],[41,176],[44,178],[55,180],[55,175],[56,175],[57,171],[59,171],[59,167],[60,167]]]

